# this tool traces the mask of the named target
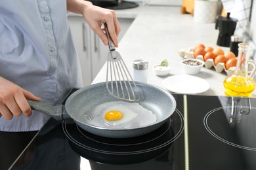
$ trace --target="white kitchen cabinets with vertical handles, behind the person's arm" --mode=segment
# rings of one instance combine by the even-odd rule
[[[123,37],[133,20],[132,18],[119,18],[121,25],[119,41],[121,41],[121,37]],[[109,52],[108,46],[103,44],[82,16],[70,15],[68,16],[68,21],[81,64],[83,84],[87,86],[91,84],[106,62]]]

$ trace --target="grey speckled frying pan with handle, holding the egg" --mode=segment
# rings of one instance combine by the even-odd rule
[[[171,93],[158,86],[140,82],[136,82],[136,85],[141,95],[139,104],[156,114],[157,120],[153,124],[129,129],[112,129],[90,124],[91,119],[88,110],[102,103],[120,100],[108,92],[106,82],[80,88],[68,97],[65,105],[52,106],[30,100],[28,103],[33,110],[43,112],[56,120],[72,118],[77,126],[95,135],[112,138],[137,137],[163,125],[175,111],[176,101]]]

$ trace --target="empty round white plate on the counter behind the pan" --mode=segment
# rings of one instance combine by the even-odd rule
[[[163,80],[163,86],[170,92],[197,94],[209,90],[209,82],[197,76],[177,75]]]

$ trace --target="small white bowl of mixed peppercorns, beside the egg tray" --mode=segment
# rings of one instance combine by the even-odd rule
[[[196,75],[200,73],[200,70],[204,65],[204,61],[200,59],[187,58],[187,59],[182,59],[181,64],[186,74]]]

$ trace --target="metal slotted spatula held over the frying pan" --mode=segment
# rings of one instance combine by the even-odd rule
[[[110,49],[107,59],[106,88],[110,94],[118,99],[139,101],[140,94],[137,85],[133,81],[121,55],[116,51],[106,22],[104,22],[104,28],[108,37],[108,48]]]

